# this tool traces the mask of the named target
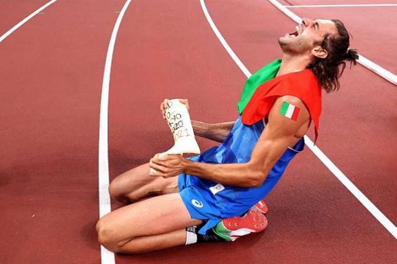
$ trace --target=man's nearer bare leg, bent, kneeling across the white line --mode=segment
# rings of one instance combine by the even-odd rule
[[[117,209],[96,224],[98,241],[113,252],[144,253],[185,243],[192,219],[178,193],[166,194]]]

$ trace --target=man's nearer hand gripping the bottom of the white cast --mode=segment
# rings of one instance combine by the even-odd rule
[[[156,154],[149,161],[149,167],[156,170],[150,170],[150,176],[154,177],[174,177],[184,172],[186,159],[182,155],[164,155]]]

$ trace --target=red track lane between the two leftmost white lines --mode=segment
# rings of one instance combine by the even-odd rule
[[[100,263],[99,102],[123,4],[58,1],[0,43],[0,263]]]

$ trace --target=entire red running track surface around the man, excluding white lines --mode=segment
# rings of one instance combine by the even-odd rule
[[[0,35],[45,3],[0,0]],[[101,263],[95,232],[101,86],[110,35],[124,3],[59,0],[0,43],[0,263]],[[277,39],[295,26],[265,0],[205,3],[252,73],[281,56]],[[391,52],[397,43],[392,27],[397,7],[290,10],[301,17],[340,18],[353,35],[352,48],[397,73],[397,56]],[[188,98],[193,120],[233,121],[245,80],[198,0],[133,0],[118,31],[111,68],[110,179],[173,144],[158,110],[164,98]],[[361,65],[347,67],[340,91],[323,94],[317,141],[393,223],[396,98],[395,85]],[[308,136],[314,138],[312,130]],[[197,139],[202,150],[215,145]],[[395,238],[307,147],[266,201],[269,226],[260,234],[137,256],[116,254],[115,261],[397,262]],[[120,206],[112,201],[112,210]]]

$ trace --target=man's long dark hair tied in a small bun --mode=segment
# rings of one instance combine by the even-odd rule
[[[317,58],[310,63],[307,68],[311,69],[319,80],[319,83],[327,92],[339,90],[341,86],[339,78],[346,68],[345,61],[351,65],[356,64],[359,55],[355,49],[349,49],[349,32],[340,20],[331,20],[338,29],[338,34],[328,33],[324,36],[322,42],[316,42],[314,45],[320,45],[328,51],[325,59]]]

